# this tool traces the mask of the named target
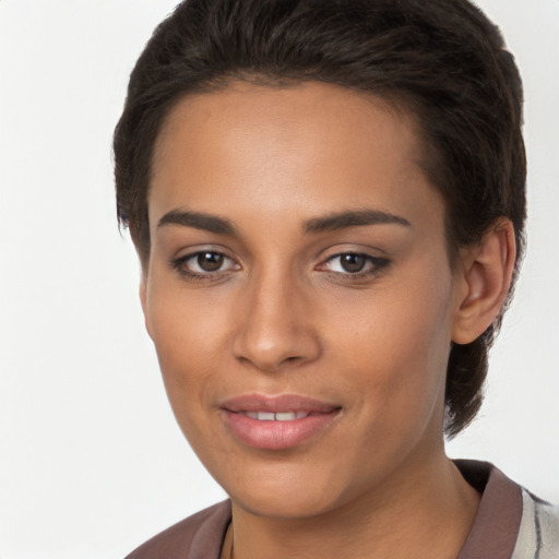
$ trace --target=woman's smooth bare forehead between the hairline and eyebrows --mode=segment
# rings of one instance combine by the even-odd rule
[[[418,199],[432,205],[435,193],[417,128],[411,114],[379,97],[319,82],[234,82],[187,96],[156,142],[152,225],[155,214],[181,205],[206,211],[210,201],[217,213],[257,204],[267,217],[294,210],[295,200],[301,218],[305,209],[322,214],[341,205],[413,213]]]

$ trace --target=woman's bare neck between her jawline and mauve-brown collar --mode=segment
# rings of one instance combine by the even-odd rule
[[[234,502],[230,557],[455,559],[478,506],[479,495],[442,455],[318,516],[266,518]]]

